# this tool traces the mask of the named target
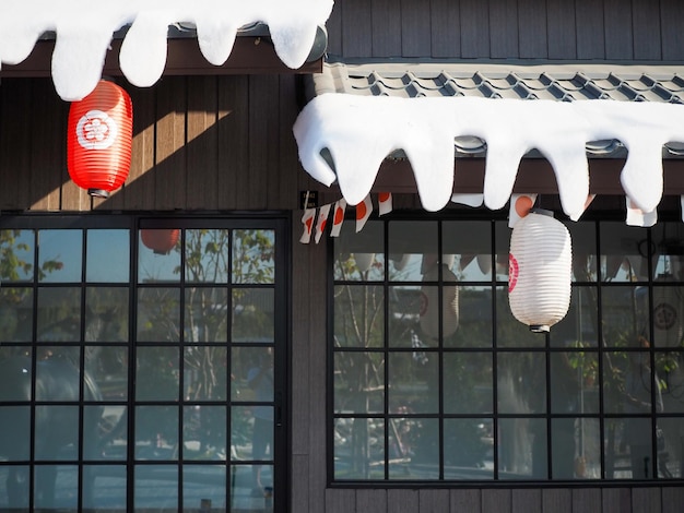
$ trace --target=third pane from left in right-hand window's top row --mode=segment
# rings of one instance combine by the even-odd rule
[[[453,261],[459,282],[492,279],[492,224],[487,220],[444,222],[443,261]]]

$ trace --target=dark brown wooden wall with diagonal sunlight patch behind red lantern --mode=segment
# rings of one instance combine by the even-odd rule
[[[133,102],[125,187],[91,200],[69,179],[69,104],[48,79],[0,84],[0,211],[291,210],[311,186],[292,126],[294,75],[168,76],[125,83]]]

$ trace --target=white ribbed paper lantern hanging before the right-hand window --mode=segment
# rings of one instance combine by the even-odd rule
[[[570,234],[552,216],[530,213],[514,226],[508,255],[508,300],[514,317],[547,332],[570,305]]]

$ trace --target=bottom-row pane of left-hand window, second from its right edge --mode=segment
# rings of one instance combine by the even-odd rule
[[[227,511],[226,482],[224,465],[184,465],[182,511]]]

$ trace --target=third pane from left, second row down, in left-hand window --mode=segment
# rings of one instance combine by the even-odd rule
[[[85,342],[128,341],[128,288],[85,289]]]

